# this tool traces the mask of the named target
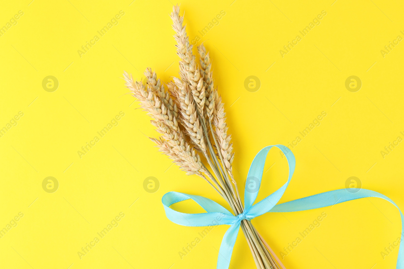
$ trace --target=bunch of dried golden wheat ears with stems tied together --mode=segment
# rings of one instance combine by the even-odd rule
[[[233,144],[227,133],[224,104],[214,86],[209,52],[203,44],[198,46],[198,65],[183,25],[184,17],[179,15],[179,6],[173,7],[170,17],[177,54],[181,58],[179,78],[173,78],[174,81],[164,87],[151,68],[144,73],[145,83],[134,81],[132,75],[124,72],[126,87],[153,118],[151,124],[161,133],[158,139],[150,138],[159,151],[187,175],[195,174],[206,180],[238,215],[244,207],[233,175]],[[244,219],[241,228],[258,269],[284,269],[250,221]]]

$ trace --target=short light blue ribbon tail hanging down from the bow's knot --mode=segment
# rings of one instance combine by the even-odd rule
[[[233,253],[234,244],[236,243],[240,223],[240,220],[233,223],[223,236],[222,243],[220,244],[219,256],[217,257],[217,269],[229,268],[231,254]]]

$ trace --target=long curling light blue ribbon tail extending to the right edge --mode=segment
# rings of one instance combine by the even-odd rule
[[[349,190],[355,190],[354,188],[351,188]],[[312,196],[307,196],[304,198],[300,198],[297,200],[293,200],[290,202],[286,202],[283,204],[278,204],[274,206],[270,211],[268,212],[295,212],[295,211],[303,211],[303,210],[309,210],[309,209],[318,209],[322,208],[325,206],[332,206],[334,204],[339,204],[342,202],[347,202],[351,200],[356,200],[360,198],[366,198],[366,197],[378,197],[382,198],[384,200],[387,200],[391,202],[393,205],[395,205],[398,208],[397,204],[393,202],[390,198],[387,196],[384,196],[383,194],[380,194],[379,192],[375,192],[372,190],[366,190],[366,189],[357,189],[358,192],[352,193],[349,192],[349,190],[346,189],[341,189],[341,190],[332,190],[330,192],[323,192],[320,194],[315,194]],[[400,211],[400,216],[401,216],[401,237],[404,232],[404,216]],[[401,240],[400,240],[401,242]],[[404,250],[400,246],[398,250],[398,258],[397,258],[397,269],[404,269]]]

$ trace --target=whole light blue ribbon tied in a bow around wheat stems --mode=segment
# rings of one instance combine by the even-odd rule
[[[320,194],[315,194],[312,196],[307,196],[304,198],[276,205],[276,203],[280,200],[280,198],[284,194],[286,187],[288,186],[290,179],[292,178],[293,172],[295,171],[295,165],[296,165],[295,156],[288,148],[286,148],[283,145],[275,145],[275,147],[282,150],[282,152],[286,156],[286,159],[288,160],[289,164],[288,181],[276,192],[267,196],[260,202],[257,202],[256,204],[252,205],[255,199],[257,198],[259,187],[261,185],[261,179],[264,171],[264,165],[267,153],[272,147],[274,146],[267,146],[262,150],[260,150],[260,152],[258,152],[258,154],[255,156],[254,160],[251,163],[250,169],[248,170],[246,189],[244,192],[245,208],[244,212],[239,214],[238,216],[234,216],[217,202],[213,202],[212,200],[202,196],[183,194],[181,192],[168,192],[164,194],[162,198],[162,203],[164,205],[164,209],[166,211],[168,219],[179,225],[184,226],[214,226],[222,224],[230,225],[230,228],[226,231],[222,243],[220,245],[219,257],[217,259],[217,269],[229,268],[231,253],[233,252],[233,247],[234,243],[236,242],[238,230],[240,228],[240,223],[243,219],[251,220],[267,212],[294,212],[309,209],[318,209],[324,206],[331,206],[334,204],[339,204],[342,202],[366,197],[383,198],[391,202],[398,208],[397,204],[395,204],[387,196],[384,196],[383,194],[374,192],[372,190],[365,190],[365,189],[358,189],[358,192],[355,193],[348,192],[346,189],[332,190],[330,192],[323,192]],[[202,206],[203,209],[206,210],[207,213],[185,214],[170,209],[169,207],[172,204],[188,199],[192,199],[195,202],[197,202],[200,206]],[[399,208],[398,210],[400,211]],[[400,215],[401,215],[401,225],[402,225],[401,234],[402,234],[404,227],[403,223],[404,216],[401,213],[401,211]],[[402,248],[399,248],[398,250],[398,259],[396,268],[404,269],[404,252]]]

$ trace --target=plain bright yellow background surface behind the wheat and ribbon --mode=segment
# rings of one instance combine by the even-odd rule
[[[287,145],[325,111],[321,125],[292,149],[296,172],[280,202],[345,188],[347,178],[356,176],[363,188],[387,195],[404,209],[404,143],[385,158],[380,153],[398,136],[404,138],[404,41],[384,58],[380,52],[398,35],[404,37],[403,3],[233,1],[183,1],[181,12],[185,10],[191,40],[201,37],[198,31],[221,10],[226,13],[198,45],[204,42],[213,60],[233,136],[240,191],[261,148]],[[186,176],[157,152],[146,137],[157,133],[126,94],[122,79],[124,70],[142,79],[146,67],[165,82],[178,74],[169,17],[173,4],[2,2],[0,27],[19,10],[24,15],[0,37],[0,127],[19,111],[24,115],[0,138],[0,228],[19,212],[24,216],[0,238],[1,268],[216,266],[227,226],[210,231],[181,259],[178,252],[203,228],[169,221],[161,197],[179,191],[225,202],[202,179]],[[81,46],[120,10],[125,14],[118,25],[80,57]],[[282,58],[279,50],[322,10],[327,15],[320,25]],[[59,81],[55,92],[42,88],[48,75]],[[244,88],[250,75],[261,81],[257,92]],[[362,81],[358,92],[345,88],[351,75]],[[125,115],[118,126],[80,158],[78,150],[120,111]],[[278,150],[269,153],[265,171],[257,200],[286,181],[286,160]],[[48,176],[59,182],[54,193],[42,189]],[[160,181],[155,193],[143,189],[149,176]],[[202,212],[191,203],[178,209]],[[77,252],[120,212],[125,216],[118,227],[80,259]],[[381,199],[267,213],[253,223],[279,254],[322,212],[327,217],[320,227],[284,257],[286,268],[395,268],[398,248],[385,259],[380,252],[400,236],[400,215]],[[240,231],[230,268],[253,267]]]

